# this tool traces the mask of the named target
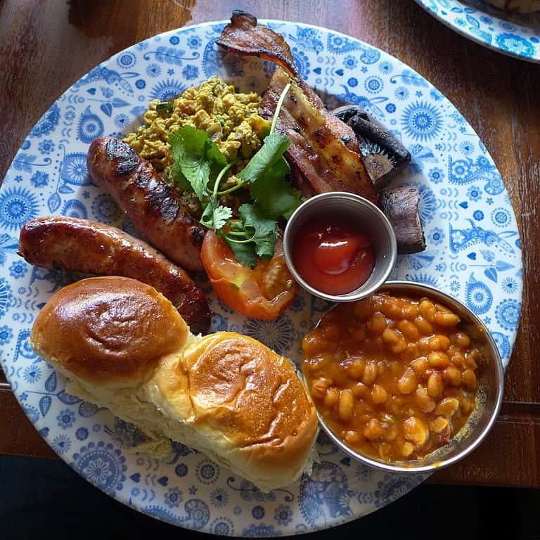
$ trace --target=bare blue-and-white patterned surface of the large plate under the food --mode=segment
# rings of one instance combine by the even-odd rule
[[[359,103],[411,150],[396,184],[416,185],[428,248],[399,257],[392,277],[432,283],[488,324],[508,364],[520,319],[522,260],[501,175],[480,139],[429,82],[387,53],[323,28],[271,21],[295,50],[302,76],[330,106]],[[262,92],[267,63],[217,51],[224,23],[147,39],[91,70],[51,105],[24,141],[0,191],[0,361],[21,406],[56,453],[99,489],[147,515],[222,535],[281,536],[333,527],[391,503],[425,475],[387,475],[351,461],[320,435],[311,476],[263,493],[221,465],[171,444],[135,454],[143,436],[106,409],[65,392],[65,379],[32,352],[34,318],[75,274],[38,269],[17,255],[18,232],[38,215],[89,217],[136,233],[91,185],[88,143],[127,133],[151,98],[167,99],[219,74]],[[202,284],[210,293],[208,283]],[[274,322],[244,319],[212,294],[212,330],[252,335],[300,361],[300,338],[329,304],[300,294]]]

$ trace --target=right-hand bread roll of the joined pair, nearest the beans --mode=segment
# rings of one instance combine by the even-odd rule
[[[314,404],[293,366],[257,340],[207,335],[156,371],[152,384],[154,403],[193,429],[188,446],[259,487],[302,474],[317,431]]]

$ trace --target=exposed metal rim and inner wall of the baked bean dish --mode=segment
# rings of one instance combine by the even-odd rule
[[[412,297],[429,297],[453,309],[460,316],[461,323],[459,327],[468,333],[475,347],[480,349],[486,359],[486,363],[479,366],[477,370],[478,393],[475,409],[470,413],[463,428],[454,435],[448,444],[417,461],[390,463],[364,456],[337,437],[318,413],[319,423],[326,435],[330,437],[338,448],[361,463],[390,473],[432,473],[464,458],[487,437],[491,426],[499,415],[503,399],[504,371],[501,354],[499,354],[499,349],[489,330],[473,311],[470,311],[465,304],[442,292],[442,290],[421,283],[413,283],[412,281],[388,281],[378,292]]]

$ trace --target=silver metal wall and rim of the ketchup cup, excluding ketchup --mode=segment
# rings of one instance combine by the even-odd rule
[[[358,224],[361,231],[375,238],[375,266],[371,276],[364,285],[345,295],[328,295],[312,287],[304,281],[293,262],[293,242],[297,232],[309,221],[326,216],[350,219],[352,223]],[[373,203],[354,193],[332,191],[311,197],[290,217],[283,234],[283,255],[295,281],[308,293],[329,302],[353,302],[375,293],[390,276],[397,257],[396,236],[388,218]]]

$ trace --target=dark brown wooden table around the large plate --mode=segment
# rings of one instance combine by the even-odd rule
[[[46,108],[99,62],[154,34],[229,18],[233,8],[326,26],[388,51],[448,96],[484,141],[518,217],[525,257],[522,322],[493,431],[469,458],[430,481],[539,487],[540,66],[458,36],[413,0],[0,0],[0,179]],[[56,456],[3,375],[2,453]]]

